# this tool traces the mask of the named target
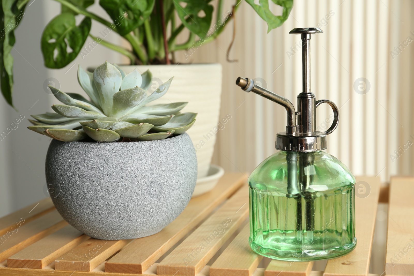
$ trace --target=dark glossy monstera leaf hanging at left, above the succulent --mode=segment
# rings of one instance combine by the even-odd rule
[[[79,26],[76,26],[75,15],[71,13],[62,13],[53,18],[44,29],[41,38],[46,67],[62,68],[74,60],[90,30],[91,20],[87,17]]]

